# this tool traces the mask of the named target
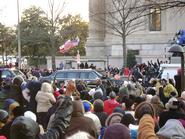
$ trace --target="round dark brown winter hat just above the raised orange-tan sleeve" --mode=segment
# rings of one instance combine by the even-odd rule
[[[150,114],[152,117],[155,115],[155,110],[151,103],[142,102],[135,109],[135,118],[141,119],[144,114]]]

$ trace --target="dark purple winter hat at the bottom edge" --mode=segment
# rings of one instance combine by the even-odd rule
[[[104,139],[130,139],[129,129],[120,123],[115,123],[107,127],[104,133]]]

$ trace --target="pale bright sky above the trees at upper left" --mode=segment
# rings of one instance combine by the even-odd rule
[[[59,5],[59,1],[55,0]],[[73,15],[80,14],[81,17],[88,21],[88,1],[89,0],[65,0],[66,1],[66,13]],[[62,2],[60,2],[62,3]],[[31,5],[41,7],[43,10],[48,9],[48,0],[19,0],[20,16],[21,12],[29,8]],[[7,26],[13,26],[17,24],[17,0],[0,0],[0,22]]]

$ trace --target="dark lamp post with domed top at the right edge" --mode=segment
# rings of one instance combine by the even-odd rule
[[[173,53],[172,56],[181,57],[181,92],[184,91],[184,49],[180,45],[173,45],[169,51]]]

